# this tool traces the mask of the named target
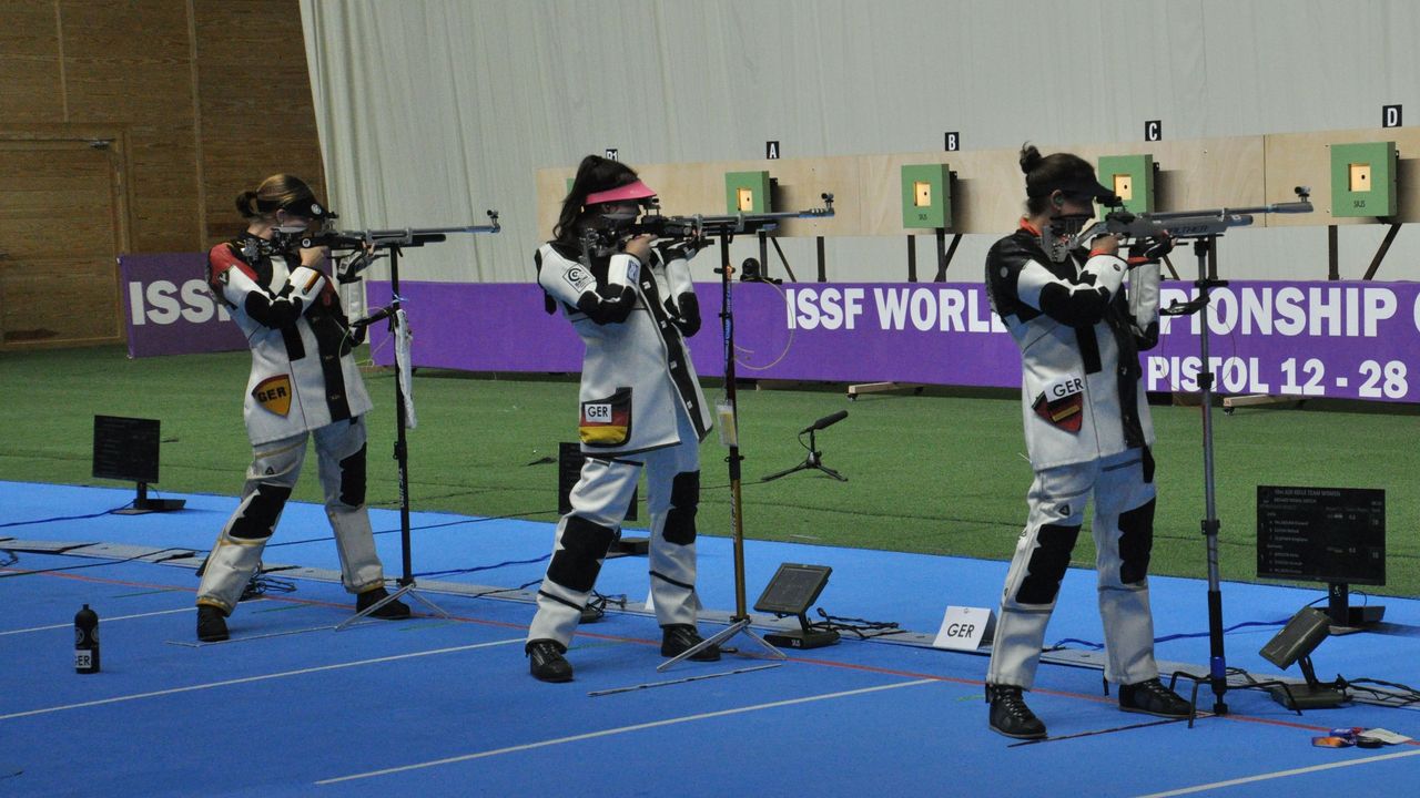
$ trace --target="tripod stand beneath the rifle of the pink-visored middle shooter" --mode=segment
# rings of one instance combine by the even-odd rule
[[[683,659],[697,655],[710,646],[719,646],[741,633],[758,643],[771,657],[788,659],[784,652],[775,649],[750,629],[750,613],[744,601],[744,515],[740,501],[740,461],[744,457],[740,456],[738,405],[734,392],[734,307],[730,293],[730,277],[734,274],[734,267],[730,266],[730,239],[733,236],[728,230],[721,230],[719,237],[720,268],[716,271],[720,273],[720,328],[724,334],[724,395],[730,406],[730,417],[721,417],[720,423],[721,434],[730,447],[730,456],[726,457],[726,463],[730,466],[730,523],[734,532],[734,615],[730,616],[730,626],[657,665],[657,672],[666,670]],[[728,426],[728,429],[723,429],[723,426]]]

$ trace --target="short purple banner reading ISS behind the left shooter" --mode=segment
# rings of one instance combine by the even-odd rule
[[[247,348],[241,328],[207,288],[206,271],[206,253],[118,258],[129,358]]]

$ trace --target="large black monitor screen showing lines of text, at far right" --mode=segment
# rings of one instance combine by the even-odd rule
[[[1258,486],[1257,575],[1384,585],[1386,491]]]

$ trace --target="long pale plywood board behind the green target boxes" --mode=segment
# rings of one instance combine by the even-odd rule
[[[1285,136],[1235,136],[1177,142],[1042,146],[1074,152],[1089,162],[1105,155],[1152,153],[1160,166],[1156,207],[1203,210],[1292,202],[1292,186],[1311,185],[1316,213],[1265,214],[1257,226],[1329,224],[1331,172],[1326,145],[1396,141],[1402,153],[1420,152],[1420,129],[1331,131]],[[660,192],[666,213],[724,213],[724,173],[767,169],[778,179],[777,210],[818,204],[818,193],[835,195],[836,216],[824,222],[792,222],[785,236],[906,236],[902,226],[902,166],[947,163],[956,173],[951,233],[1011,230],[1025,206],[1025,176],[1015,149],[917,152],[846,158],[723,160],[636,165],[646,183]],[[1403,222],[1420,220],[1420,160],[1400,159]],[[537,173],[538,231],[557,220],[574,168]],[[1350,222],[1350,220],[1343,220]],[[1365,222],[1365,220],[1362,220]]]

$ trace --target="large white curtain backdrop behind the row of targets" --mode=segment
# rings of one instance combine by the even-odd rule
[[[1136,142],[1145,119],[1196,139],[1420,114],[1410,0],[301,0],[301,16],[342,226],[504,214],[500,236],[406,258],[405,280],[532,280],[550,236],[537,169],[609,146],[630,165],[763,158],[768,139],[784,158],[923,152],[944,131],[963,149],[1049,149]],[[1343,277],[1382,234],[1342,227]],[[1413,239],[1380,278],[1420,277]],[[980,278],[990,240],[967,236],[949,278]],[[812,244],[785,250],[812,278]],[[906,274],[897,237],[831,239],[828,261],[831,280]],[[1326,231],[1234,233],[1221,263],[1323,278]]]

